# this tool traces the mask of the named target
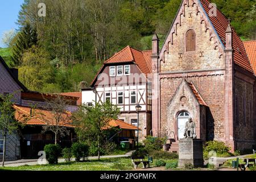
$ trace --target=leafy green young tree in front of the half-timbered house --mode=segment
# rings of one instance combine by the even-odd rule
[[[104,104],[96,103],[93,107],[82,105],[73,114],[73,123],[79,139],[97,140],[98,160],[100,160],[105,131],[111,128],[109,122],[111,119],[117,119],[119,113],[120,109],[116,105],[105,102]]]

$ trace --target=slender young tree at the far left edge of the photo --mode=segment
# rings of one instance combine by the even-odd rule
[[[30,115],[22,115],[19,114],[19,111],[15,111],[13,106],[14,95],[15,94],[0,94],[0,132],[3,135],[3,167],[5,166],[7,135],[14,134],[14,132],[18,130],[19,126],[26,124],[26,122],[31,118]],[[19,123],[18,121],[22,121],[22,123]]]

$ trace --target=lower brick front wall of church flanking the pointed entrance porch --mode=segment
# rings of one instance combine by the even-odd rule
[[[160,82],[160,130],[168,133],[168,122],[176,118],[177,113],[168,115],[168,103],[174,96],[177,87],[183,78],[164,78]],[[197,90],[209,106],[207,110],[207,139],[221,139],[225,135],[224,128],[224,76],[186,77],[192,81]],[[177,108],[181,109],[180,108]],[[174,128],[172,128],[174,130]]]

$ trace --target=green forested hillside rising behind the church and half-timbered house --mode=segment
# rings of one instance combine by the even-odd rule
[[[38,3],[46,17],[38,16]],[[72,92],[102,63],[130,45],[151,49],[154,32],[164,40],[181,0],[24,0],[10,43],[13,67],[27,88]],[[256,39],[256,0],[213,0],[243,40]],[[1,52],[0,52],[1,55]]]

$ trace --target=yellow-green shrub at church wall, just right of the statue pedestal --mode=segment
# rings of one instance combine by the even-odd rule
[[[225,154],[229,153],[230,147],[226,146],[224,142],[220,141],[208,141],[205,143],[206,146],[204,146],[205,152],[215,151],[217,154]]]

